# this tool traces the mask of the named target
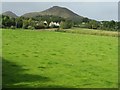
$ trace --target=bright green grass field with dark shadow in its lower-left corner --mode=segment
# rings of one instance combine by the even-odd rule
[[[3,87],[116,88],[118,39],[2,30]]]

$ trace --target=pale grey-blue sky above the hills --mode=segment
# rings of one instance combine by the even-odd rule
[[[66,7],[80,16],[99,21],[118,20],[118,2],[2,2],[2,12],[12,11],[20,16],[53,6]]]

